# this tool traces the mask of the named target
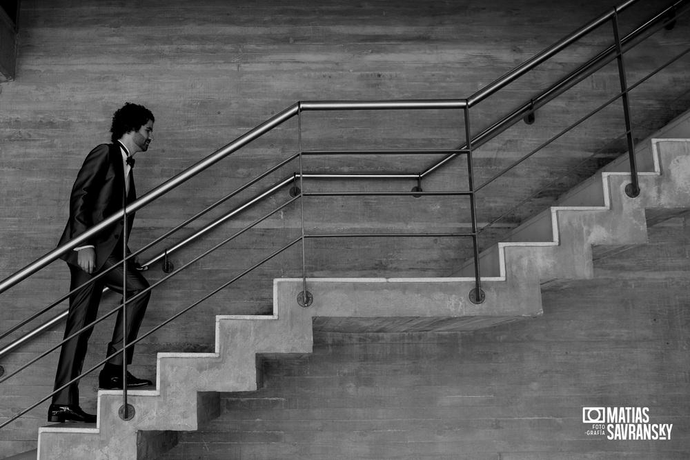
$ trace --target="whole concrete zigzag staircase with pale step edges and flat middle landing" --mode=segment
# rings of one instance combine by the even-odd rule
[[[593,277],[591,245],[647,241],[647,219],[690,202],[690,114],[638,146],[640,197],[624,193],[626,159],[609,165],[481,255],[484,303],[469,300],[472,264],[437,279],[308,279],[314,302],[297,304],[302,280],[274,282],[272,316],[218,316],[215,352],[159,353],[155,390],[128,392],[135,416],[118,415],[121,392],[100,391],[95,426],[39,429],[39,459],[155,458],[175,432],[217,417],[217,392],[257,389],[257,354],[311,352],[313,329],[464,331],[542,313],[540,285]],[[646,211],[647,210],[647,211]]]

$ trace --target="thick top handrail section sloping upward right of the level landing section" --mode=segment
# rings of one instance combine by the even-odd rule
[[[555,54],[558,54],[565,48],[571,46],[575,41],[578,41],[582,37],[584,37],[586,34],[589,34],[589,32],[592,32],[602,24],[606,23],[607,21],[611,20],[613,18],[613,15],[616,14],[616,12],[620,13],[623,10],[627,10],[630,6],[632,6],[634,3],[637,3],[638,0],[628,0],[622,5],[618,6],[617,8],[613,8],[609,10],[608,12],[602,14],[600,17],[594,19],[593,21],[587,23],[585,26],[582,26],[570,34],[568,34],[564,39],[561,39],[557,43],[554,43],[552,46],[549,46],[549,48],[546,48],[542,52],[536,54],[534,57],[531,57],[531,59],[528,59],[527,61],[524,61],[524,63],[520,64],[520,66],[517,66],[510,72],[507,72],[504,74],[502,77],[499,77],[492,83],[489,83],[488,86],[485,86],[481,90],[475,92],[475,94],[472,94],[468,99],[467,103],[469,107],[475,106],[477,103],[480,101],[483,101],[487,97],[491,96],[498,90],[501,90],[504,88],[506,85],[509,83],[512,83],[516,79],[522,77],[522,75],[526,74],[526,72],[529,72],[533,68],[539,66],[541,63],[544,61],[548,60],[549,58],[553,57]]]

